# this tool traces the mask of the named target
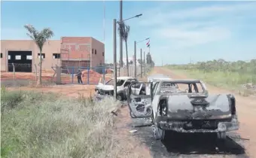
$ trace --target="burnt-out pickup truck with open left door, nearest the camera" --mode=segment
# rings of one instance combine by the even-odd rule
[[[132,89],[139,87],[138,84],[147,85],[146,94],[133,93]],[[152,118],[156,139],[166,139],[166,130],[172,130],[215,132],[224,140],[226,132],[239,129],[235,97],[232,94],[210,95],[200,80],[130,84],[128,104],[131,117]]]

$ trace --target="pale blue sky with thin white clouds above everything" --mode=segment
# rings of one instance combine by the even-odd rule
[[[113,19],[118,1],[1,2],[1,39],[29,39],[24,25],[50,27],[52,39],[91,36],[105,43],[105,62],[113,62]],[[104,39],[105,5],[105,39]],[[124,1],[123,19],[130,26],[128,53],[134,41],[150,38],[150,53],[157,65],[183,64],[211,59],[256,59],[256,2]],[[137,44],[148,53],[145,42]],[[119,61],[117,34],[117,61]],[[123,56],[125,55],[123,42]]]

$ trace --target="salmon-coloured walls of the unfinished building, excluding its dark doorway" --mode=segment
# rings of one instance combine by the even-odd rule
[[[63,51],[66,49],[69,51]],[[32,51],[32,71],[35,71],[35,64],[38,65],[40,53],[37,45],[32,40],[1,40],[1,71],[8,71],[8,50],[31,50]],[[92,50],[94,51],[92,54]],[[95,54],[95,50],[97,53]],[[61,65],[60,59],[53,59],[53,53],[62,54],[62,59],[73,61],[91,60],[90,66],[96,66],[104,63],[105,56],[104,44],[90,37],[62,37],[61,40],[49,40],[44,44],[42,53],[45,53],[45,59],[42,62],[43,71],[52,71],[52,66]]]

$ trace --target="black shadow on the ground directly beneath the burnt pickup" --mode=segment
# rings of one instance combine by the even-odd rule
[[[166,132],[163,141],[168,152],[181,154],[245,154],[245,149],[227,137],[218,141],[215,133],[178,133]]]

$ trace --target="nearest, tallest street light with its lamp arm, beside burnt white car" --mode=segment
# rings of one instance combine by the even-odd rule
[[[142,14],[138,14],[134,17],[127,18],[123,21],[133,19],[135,17],[141,17]],[[123,21],[113,20],[113,43],[114,43],[114,99],[117,99],[117,23],[123,23]],[[123,62],[123,59],[122,59]]]

